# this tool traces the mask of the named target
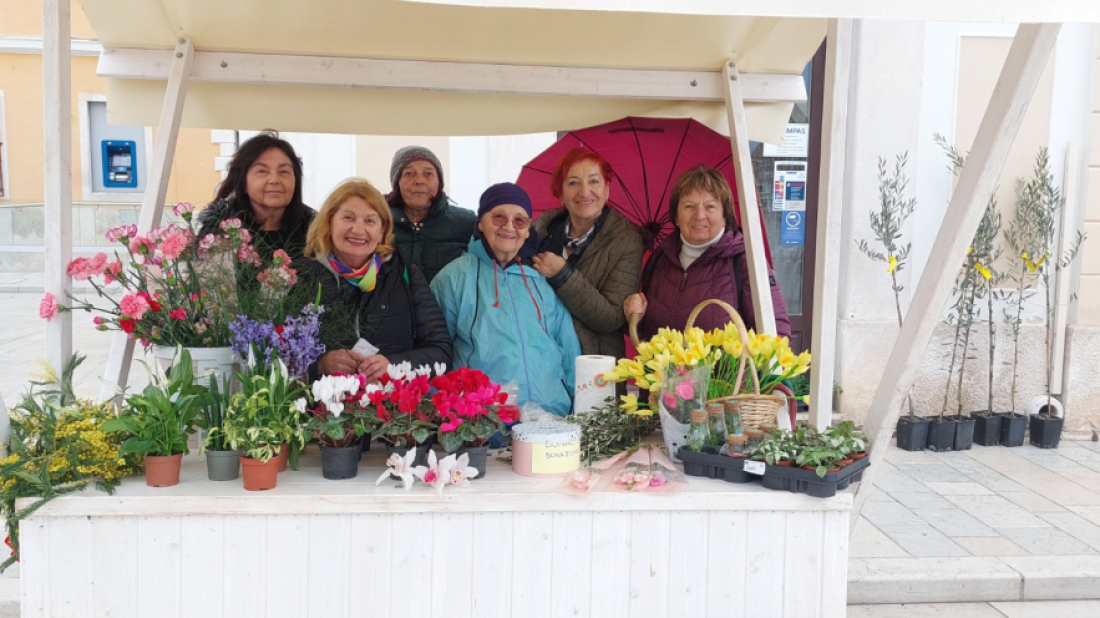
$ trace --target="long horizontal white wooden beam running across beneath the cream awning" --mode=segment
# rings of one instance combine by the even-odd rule
[[[100,77],[165,79],[172,52],[108,48]],[[713,70],[637,70],[520,66],[337,56],[196,52],[191,79],[234,84],[329,86],[563,97],[614,97],[723,101],[722,75]],[[750,102],[802,102],[801,75],[747,74],[743,97]]]

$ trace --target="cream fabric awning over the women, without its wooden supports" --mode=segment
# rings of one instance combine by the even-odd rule
[[[470,64],[476,65],[470,70],[482,73],[492,73],[495,66],[543,67],[543,73],[531,69],[530,80],[557,70],[556,88],[564,90],[578,81],[565,69],[656,71],[653,79],[668,75],[676,80],[682,76],[675,71],[721,76],[727,58],[741,74],[798,76],[826,27],[824,19],[544,11],[398,0],[81,0],[81,4],[105,48],[100,73],[109,78],[108,114],[113,123],[157,123],[170,63],[170,57],[162,56],[179,36],[188,36],[196,49],[196,68],[184,125],[381,135],[559,131],[624,115],[693,117],[728,134],[721,97],[530,93],[524,90],[524,75],[507,71],[501,77],[503,91],[424,90],[393,82],[404,71],[419,71],[407,60],[457,63],[455,75],[463,75]],[[142,49],[158,51],[161,56],[150,52],[148,62],[142,64],[144,56],[132,52]],[[238,55],[217,55],[232,53]],[[310,67],[307,58],[299,69],[307,81],[312,74],[346,70],[353,77],[359,70],[353,65],[330,71],[329,58],[398,63],[374,66],[373,75],[387,76],[382,88],[353,78],[350,86],[333,86],[278,77],[293,73],[287,68],[292,57],[300,56],[321,63]],[[245,65],[251,67],[246,82],[230,76],[234,70],[242,75]],[[209,68],[204,73],[200,66]],[[218,67],[226,68],[224,78]],[[583,84],[578,88],[583,90]],[[790,97],[770,102],[746,99],[750,136],[779,141],[790,115]]]

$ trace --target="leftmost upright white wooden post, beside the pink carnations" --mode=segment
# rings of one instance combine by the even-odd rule
[[[69,0],[42,2],[42,82],[45,152],[45,289],[66,304],[73,278],[73,57]],[[73,355],[73,313],[46,322],[46,360],[61,374]]]

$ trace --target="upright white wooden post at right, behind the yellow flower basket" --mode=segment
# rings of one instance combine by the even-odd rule
[[[825,96],[822,106],[821,175],[817,187],[817,255],[814,261],[813,371],[810,422],[825,429],[833,420],[837,289],[848,147],[848,77],[851,20],[829,20],[825,37]]]

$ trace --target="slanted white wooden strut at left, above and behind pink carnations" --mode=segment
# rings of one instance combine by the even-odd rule
[[[141,214],[138,218],[138,232],[144,234],[161,224],[164,212],[164,199],[168,194],[168,178],[172,175],[172,161],[176,153],[176,137],[179,135],[179,120],[184,115],[184,102],[187,99],[187,84],[190,80],[191,62],[195,58],[195,47],[191,40],[182,36],[176,42],[176,51],[168,74],[168,88],[161,107],[161,123],[157,126],[156,143],[153,146],[153,165],[150,166],[148,181],[145,183],[145,196],[141,203]],[[134,342],[125,333],[114,333],[111,340],[111,352],[107,356],[105,382],[99,397],[106,401],[116,397],[111,385],[125,388],[130,378],[130,362],[133,358]]]

